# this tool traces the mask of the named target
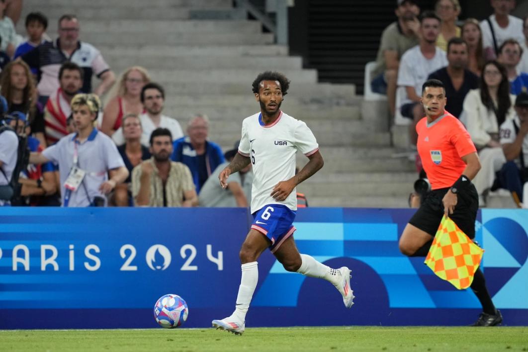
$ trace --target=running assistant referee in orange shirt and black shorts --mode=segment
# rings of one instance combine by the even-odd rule
[[[480,161],[464,125],[445,110],[444,84],[439,80],[423,83],[421,103],[426,117],[416,125],[417,147],[431,192],[400,237],[400,251],[408,256],[427,256],[444,214],[474,239],[478,211],[478,194],[471,180],[480,169]],[[483,308],[473,325],[501,324],[501,312],[493,305],[480,268],[475,272],[471,289]]]

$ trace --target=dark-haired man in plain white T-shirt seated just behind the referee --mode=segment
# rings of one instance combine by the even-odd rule
[[[425,115],[420,96],[429,74],[448,65],[446,52],[436,46],[440,34],[440,18],[432,11],[420,15],[420,44],[406,51],[398,70],[399,100],[396,108],[403,117],[413,120],[409,135],[416,145],[416,123]]]

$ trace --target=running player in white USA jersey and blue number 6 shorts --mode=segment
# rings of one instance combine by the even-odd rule
[[[324,162],[317,141],[306,123],[280,110],[289,83],[283,74],[270,71],[259,74],[253,81],[253,93],[260,103],[260,112],[242,122],[238,153],[219,175],[220,184],[225,188],[230,174],[252,164],[251,213],[254,220],[240,250],[242,279],[237,303],[231,316],[212,321],[213,327],[234,334],[244,332],[246,313],[258,282],[257,259],[266,248],[271,250],[287,271],[325,279],[342,294],[346,308],[354,304],[350,269],[327,267],[312,256],[300,254],[295,246],[295,186],[314,175]],[[306,155],[309,161],[295,175],[297,150]]]

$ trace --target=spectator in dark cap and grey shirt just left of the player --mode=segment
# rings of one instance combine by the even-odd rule
[[[228,186],[223,188],[218,182],[218,176],[222,170],[229,165],[234,156],[238,153],[240,141],[237,141],[234,148],[225,152],[224,163],[220,164],[206,180],[200,194],[198,203],[205,207],[247,207],[251,202],[251,185],[253,183],[253,173],[251,163],[238,173],[229,175],[225,182]]]

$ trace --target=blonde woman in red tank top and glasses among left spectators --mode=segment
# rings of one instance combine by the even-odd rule
[[[121,74],[118,82],[109,93],[111,98],[103,112],[101,131],[108,136],[121,127],[122,119],[127,113],[143,113],[140,95],[143,86],[150,82],[150,77],[143,67],[132,66]]]

